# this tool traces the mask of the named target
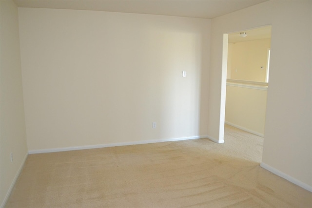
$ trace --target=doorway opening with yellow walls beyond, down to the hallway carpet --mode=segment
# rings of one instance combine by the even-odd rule
[[[269,25],[224,35],[225,124],[261,137],[264,137],[271,31]]]

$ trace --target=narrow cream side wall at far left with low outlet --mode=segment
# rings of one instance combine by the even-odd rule
[[[0,11],[0,206],[2,207],[27,156],[27,142],[18,8],[11,0],[1,0]]]

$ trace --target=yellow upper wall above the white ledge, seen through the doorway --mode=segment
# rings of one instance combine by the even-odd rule
[[[229,43],[227,78],[265,82],[270,47],[271,39]]]

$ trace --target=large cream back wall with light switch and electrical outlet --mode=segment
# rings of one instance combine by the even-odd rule
[[[19,18],[29,151],[207,134],[211,20],[39,8]]]

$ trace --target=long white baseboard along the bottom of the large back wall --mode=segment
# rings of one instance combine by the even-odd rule
[[[38,154],[38,153],[48,153],[48,152],[58,152],[58,151],[86,150],[86,149],[97,149],[97,148],[105,148],[105,147],[150,144],[150,143],[158,143],[158,142],[182,141],[182,140],[200,139],[200,138],[207,138],[207,135],[169,138],[169,139],[155,139],[155,140],[146,140],[146,141],[134,141],[134,142],[119,142],[119,143],[99,144],[99,145],[86,145],[86,146],[65,147],[65,148],[52,148],[52,149],[42,149],[42,150],[30,150],[28,151],[28,153]]]

